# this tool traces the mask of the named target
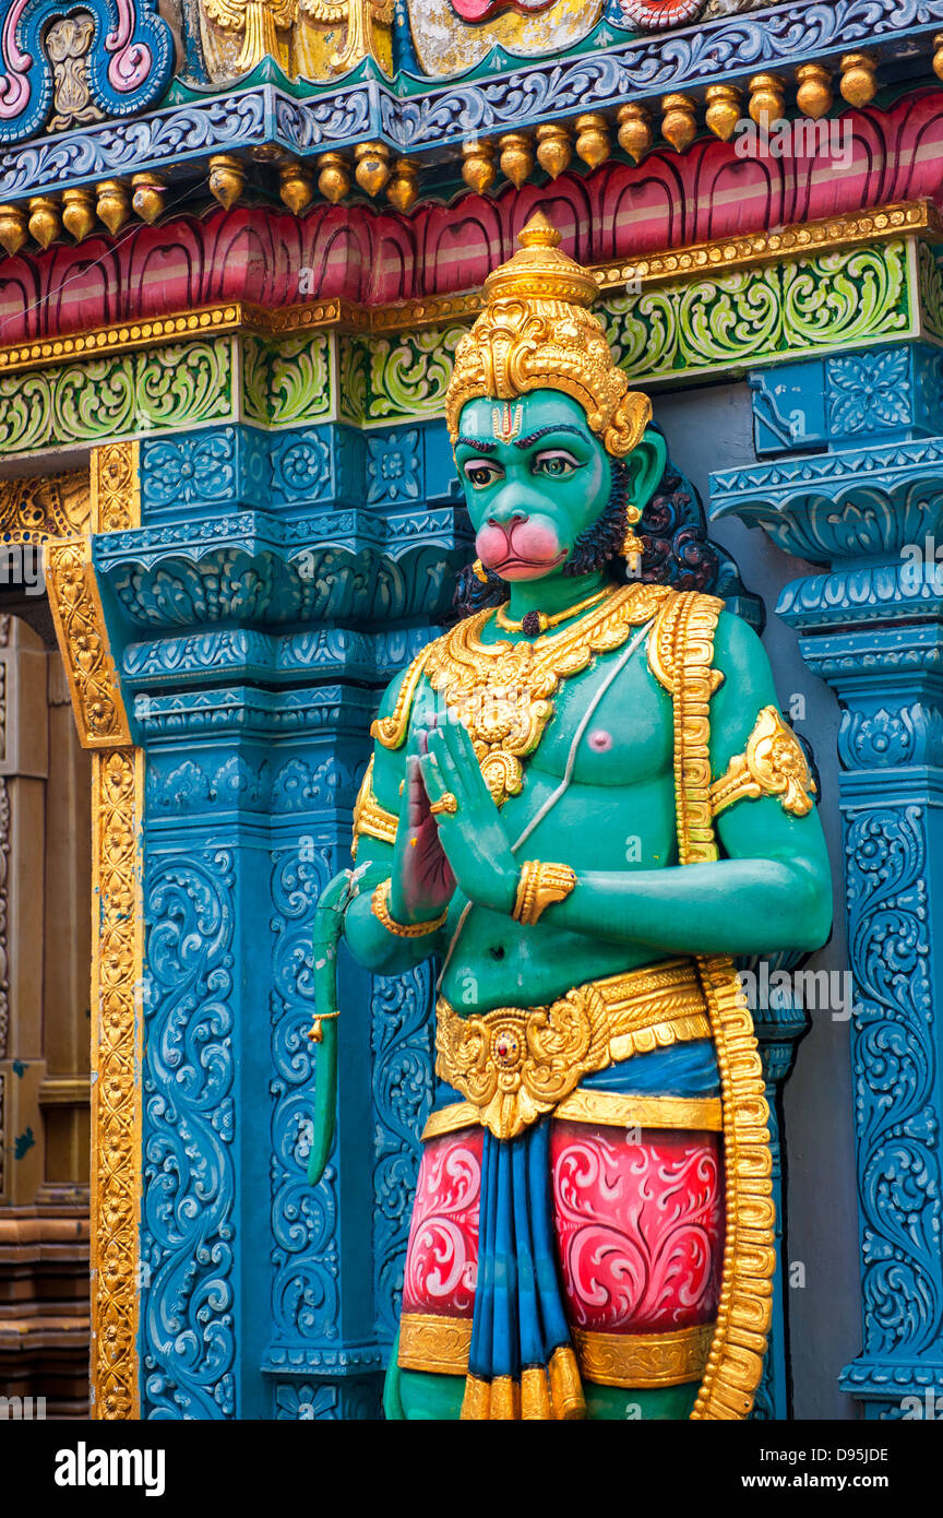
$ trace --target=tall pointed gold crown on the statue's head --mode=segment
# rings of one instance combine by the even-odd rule
[[[528,390],[562,390],[579,401],[617,458],[641,440],[647,396],[629,390],[590,307],[594,276],[559,250],[559,232],[537,211],[517,235],[520,250],[485,279],[485,310],[462,337],[446,393],[452,443],[465,401],[514,401]]]

